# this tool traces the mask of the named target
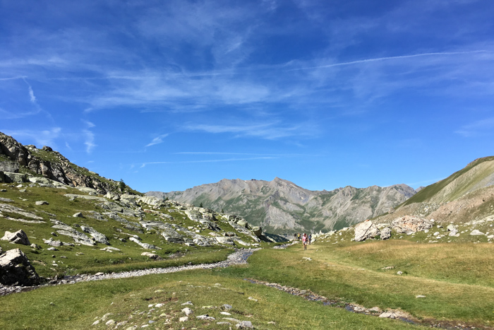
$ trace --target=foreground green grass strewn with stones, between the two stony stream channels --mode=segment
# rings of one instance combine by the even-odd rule
[[[187,301],[193,302],[193,306],[181,305]],[[148,314],[148,305],[157,303],[164,306]],[[59,285],[0,297],[0,328],[107,329],[106,321],[97,326],[91,324],[104,314],[112,313],[107,320],[128,321],[122,329],[149,324],[149,320],[155,323],[148,329],[183,329],[183,326],[185,329],[229,329],[229,326],[216,324],[224,321],[222,317],[228,317],[219,314],[219,307],[224,304],[233,307],[229,317],[251,321],[255,329],[421,329],[404,322],[309,302],[241,278],[223,276],[219,271],[187,271]],[[181,323],[183,307],[190,307],[194,314]],[[216,320],[196,319],[200,314],[209,314]]]

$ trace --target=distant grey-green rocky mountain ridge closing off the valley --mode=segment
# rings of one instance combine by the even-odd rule
[[[222,179],[186,191],[146,193],[239,214],[264,231],[278,234],[343,228],[390,211],[414,194],[406,184],[311,191],[278,177],[270,182]]]

